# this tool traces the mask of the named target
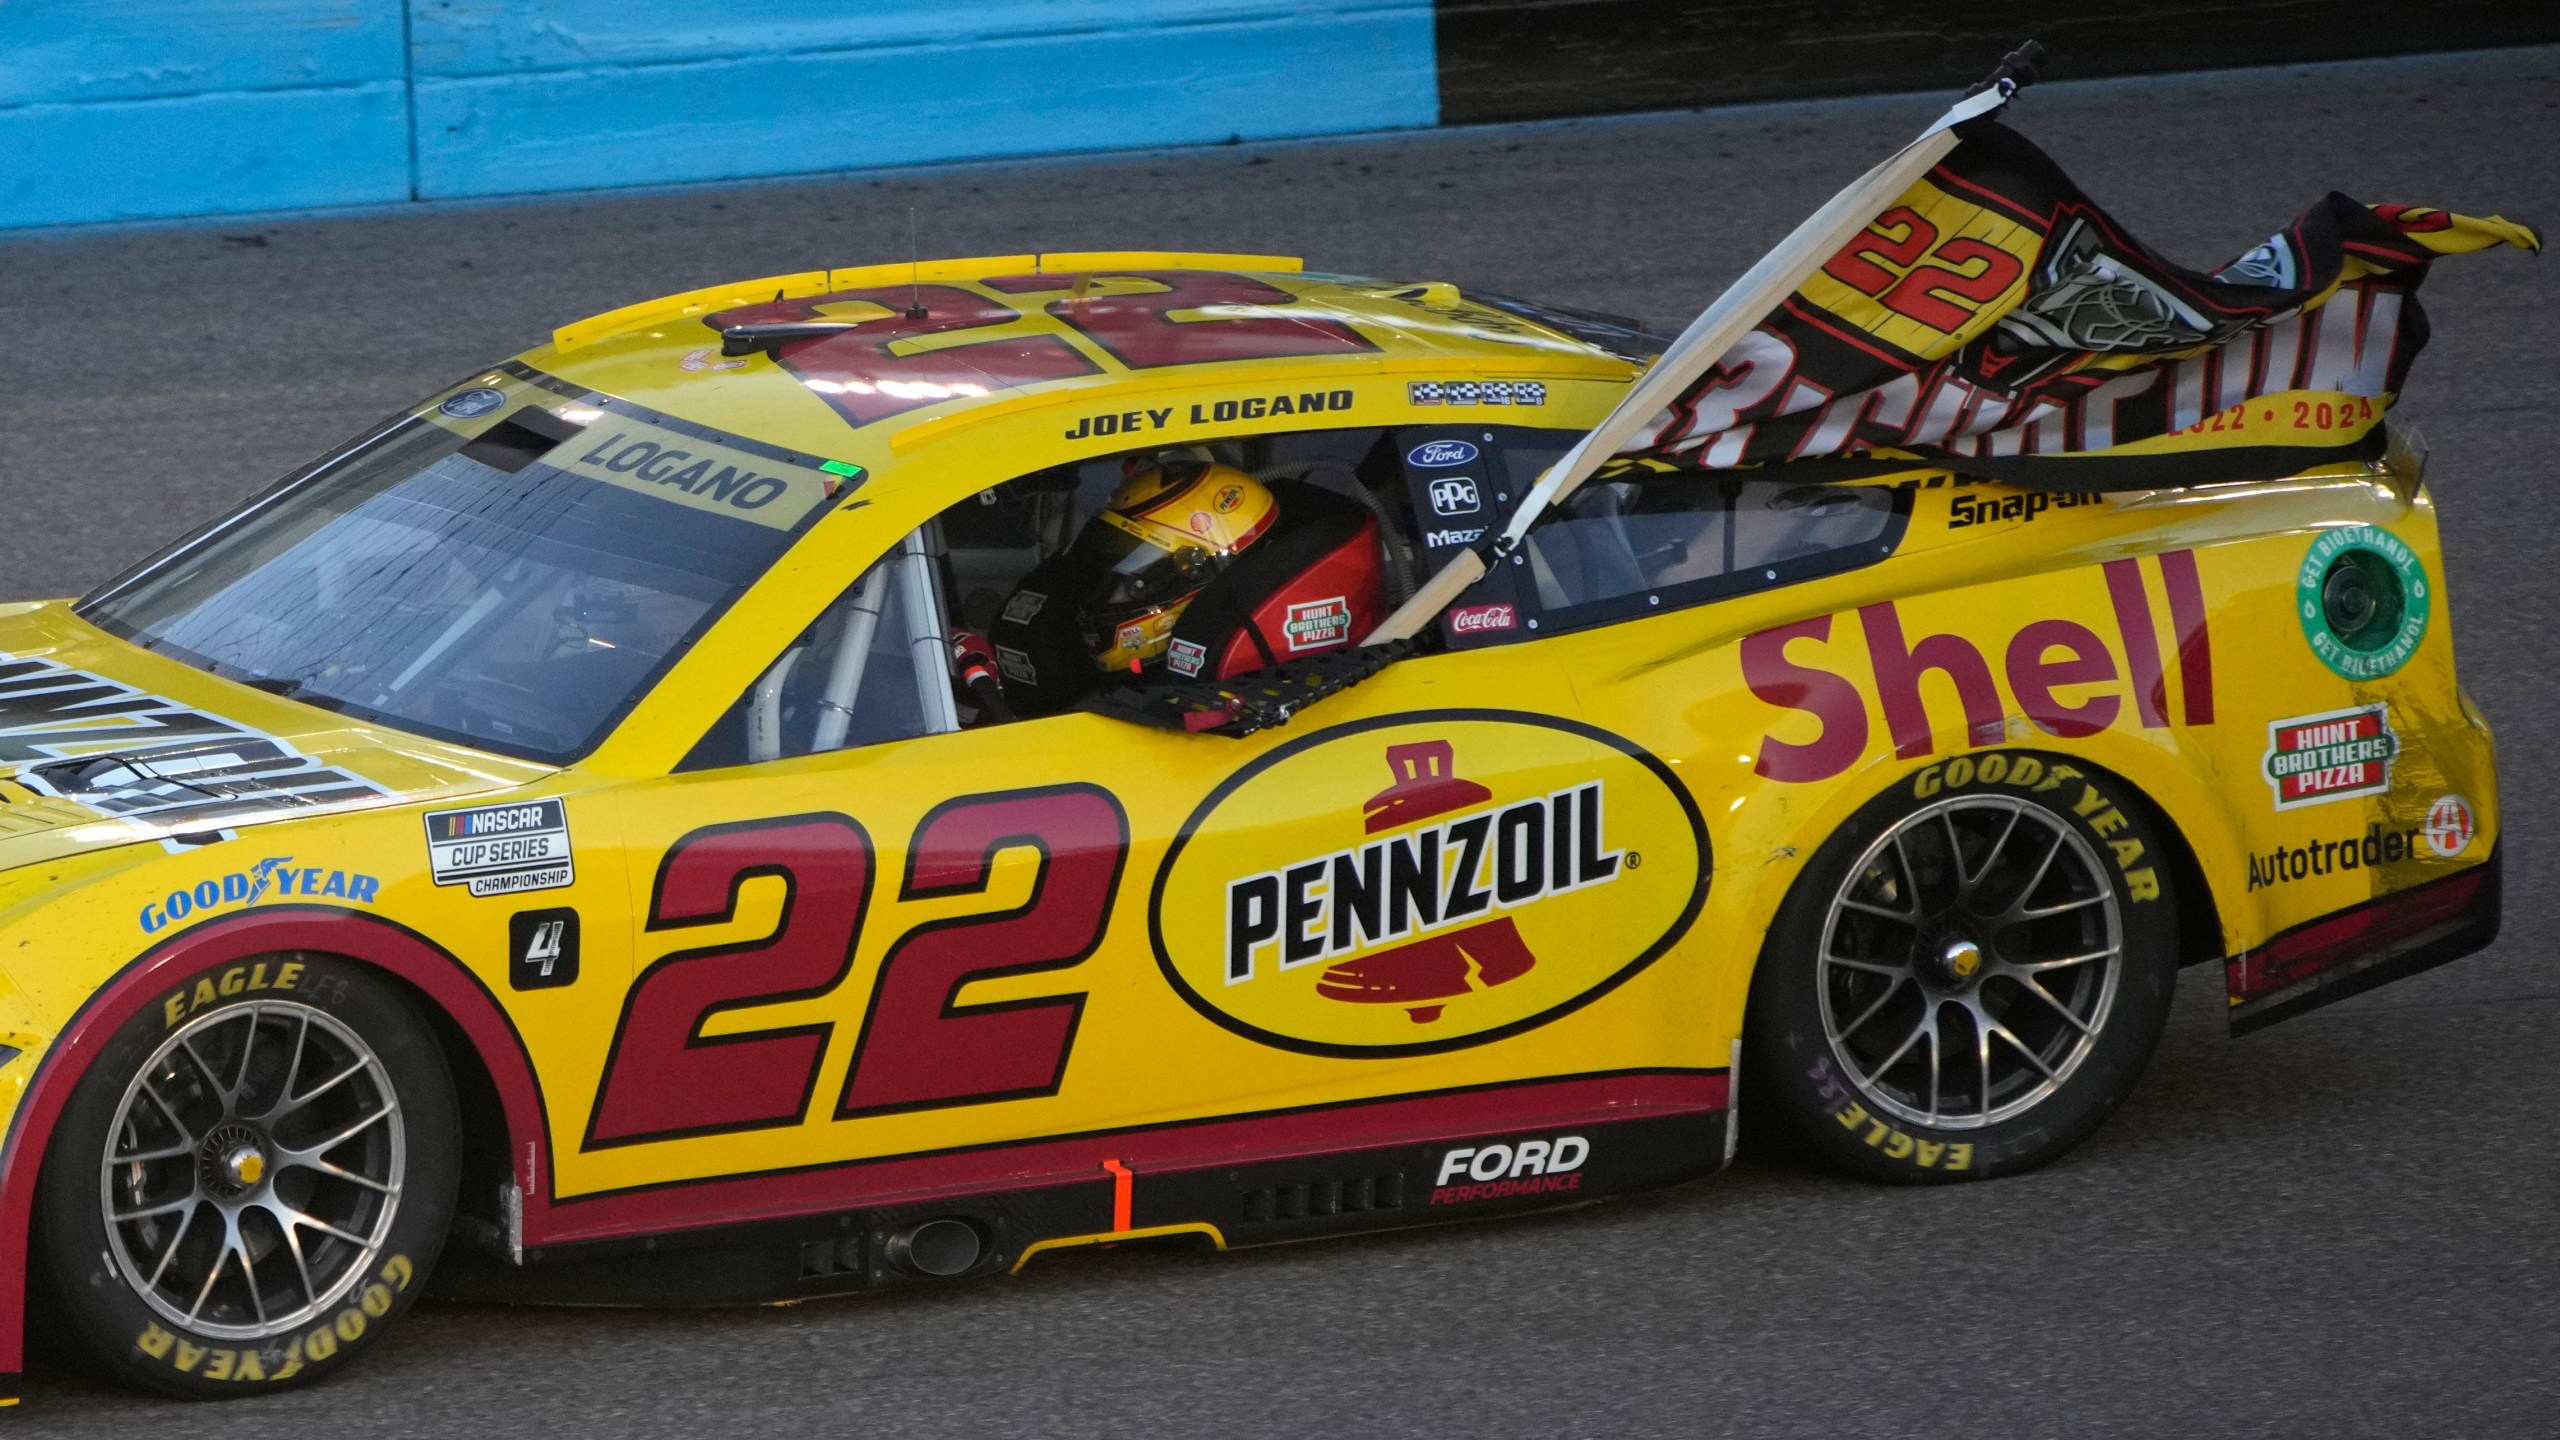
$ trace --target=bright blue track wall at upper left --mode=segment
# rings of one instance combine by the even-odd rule
[[[0,225],[1431,126],[1431,0],[0,0]]]

